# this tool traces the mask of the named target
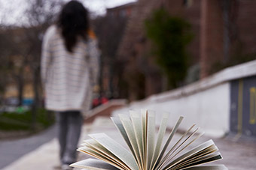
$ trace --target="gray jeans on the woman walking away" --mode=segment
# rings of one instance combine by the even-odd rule
[[[56,112],[58,126],[59,158],[62,164],[76,161],[78,141],[83,118],[78,111]]]

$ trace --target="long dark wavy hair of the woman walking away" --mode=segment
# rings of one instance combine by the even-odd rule
[[[80,2],[69,1],[60,12],[57,25],[61,29],[66,49],[72,52],[79,36],[87,40],[89,29],[88,11]]]

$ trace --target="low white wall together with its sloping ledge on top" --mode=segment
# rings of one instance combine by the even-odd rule
[[[128,113],[130,109],[152,109],[159,115],[157,124],[160,124],[161,112],[166,111],[171,114],[169,127],[183,115],[181,129],[195,123],[206,135],[224,136],[230,131],[230,81],[256,75],[255,68],[256,60],[228,67],[193,84],[130,103],[112,115]]]

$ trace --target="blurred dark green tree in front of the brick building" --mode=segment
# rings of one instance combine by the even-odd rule
[[[177,88],[187,74],[186,46],[193,38],[190,24],[160,9],[145,20],[145,31],[154,43],[153,56],[165,73],[169,88]]]

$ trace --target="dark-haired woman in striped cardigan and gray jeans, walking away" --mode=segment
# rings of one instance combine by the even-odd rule
[[[97,78],[99,51],[89,32],[86,8],[78,1],[69,1],[43,40],[41,79],[45,106],[56,112],[62,169],[71,169],[69,164],[76,161],[81,113],[90,109]]]

